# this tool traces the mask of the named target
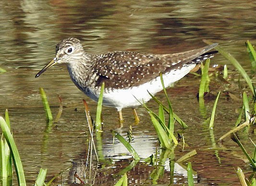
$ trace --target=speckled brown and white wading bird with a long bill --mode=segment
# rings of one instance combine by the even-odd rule
[[[139,118],[135,108],[146,103],[152,95],[182,79],[196,64],[214,57],[218,51],[210,51],[218,43],[190,51],[172,54],[147,54],[133,51],[114,51],[88,54],[79,39],[69,37],[56,45],[56,55],[36,78],[55,64],[65,63],[73,83],[89,98],[98,101],[104,82],[103,103],[117,109],[120,124],[122,109],[133,109],[135,123]],[[210,51],[210,52],[209,52]]]

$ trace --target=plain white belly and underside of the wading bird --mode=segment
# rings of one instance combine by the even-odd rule
[[[175,81],[180,80],[186,74],[195,68],[195,64],[185,66],[181,69],[171,70],[170,72],[163,74],[163,81],[165,87],[171,86]],[[118,111],[122,110],[125,107],[136,107],[141,105],[143,101],[146,103],[151,99],[151,94],[156,94],[161,91],[162,84],[160,77],[153,79],[152,81],[146,82],[139,86],[134,86],[129,89],[114,89],[114,90],[105,90],[103,93],[103,105],[117,108]],[[94,101],[98,101],[99,92],[95,92],[89,89],[90,92],[86,93]],[[148,93],[148,92],[149,93]]]

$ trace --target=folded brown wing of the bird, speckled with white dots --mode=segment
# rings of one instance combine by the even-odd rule
[[[128,88],[137,86],[166,73],[179,69],[187,63],[198,63],[210,56],[207,51],[216,44],[203,48],[164,55],[141,54],[137,52],[111,52],[98,55],[95,71],[98,74],[95,86],[105,82],[106,88]],[[203,56],[203,57],[201,57]]]

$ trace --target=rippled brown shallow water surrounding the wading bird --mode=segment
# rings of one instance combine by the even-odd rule
[[[73,174],[81,169],[88,149],[88,128],[82,99],[88,103],[95,117],[96,103],[80,92],[70,80],[65,66],[54,66],[39,78],[35,74],[41,70],[55,54],[55,45],[63,38],[75,36],[81,39],[88,53],[101,53],[115,50],[131,50],[147,53],[175,53],[205,46],[203,39],[218,42],[239,60],[250,72],[250,62],[244,42],[256,43],[255,35],[256,2],[247,0],[193,1],[39,1],[2,0],[0,4],[0,115],[8,108],[14,139],[23,161],[28,185],[34,184],[37,173],[48,169],[48,176],[56,174],[69,166],[72,168],[62,175],[63,185],[73,182]],[[186,76],[168,89],[174,112],[189,126],[176,131],[183,133],[188,146],[182,151],[178,146],[174,151],[175,159],[196,150],[197,155],[190,158],[195,170],[195,183],[202,185],[239,185],[234,168],[241,167],[249,177],[252,170],[239,147],[231,140],[217,143],[220,136],[231,128],[242,106],[240,94],[250,91],[242,81],[238,88],[239,74],[230,63],[217,55],[212,64],[228,64],[231,85],[219,80],[211,81],[213,93],[228,90],[238,100],[227,100],[221,93],[215,116],[214,136],[210,134],[204,121],[210,116],[213,99],[206,101],[206,114],[202,114],[196,99],[199,78]],[[39,87],[47,93],[52,113],[58,111],[58,98],[63,101],[63,113],[56,128],[46,130],[46,118],[41,103]],[[165,100],[163,93],[158,98]],[[153,101],[148,107],[157,109]],[[141,122],[133,126],[132,145],[141,158],[155,153],[159,147],[156,132],[146,110],[137,109]],[[115,163],[98,168],[96,185],[114,185],[115,176],[132,162],[131,156],[116,140],[112,145],[110,129],[118,126],[117,112],[114,108],[103,108],[104,133],[102,151],[106,159],[113,157]],[[124,109],[125,119],[121,134],[125,137],[133,124],[131,109]],[[253,153],[254,128],[248,134],[239,132],[244,147]],[[215,141],[213,140],[215,139]],[[99,143],[100,144],[100,143]],[[216,147],[219,149],[216,151]],[[166,164],[169,164],[168,162]],[[186,164],[184,164],[186,165]],[[96,165],[95,165],[96,166]],[[158,184],[169,184],[170,166],[164,167],[164,175]],[[186,184],[186,169],[175,163],[175,184]],[[131,185],[150,185],[150,174],[156,167],[138,163],[128,173]],[[210,173],[210,174],[209,174]],[[82,176],[82,175],[80,175]],[[60,184],[57,180],[55,185]]]

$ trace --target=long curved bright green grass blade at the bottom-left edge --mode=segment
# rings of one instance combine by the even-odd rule
[[[19,186],[26,186],[24,170],[23,170],[23,166],[21,163],[21,158],[20,158],[18,149],[15,145],[14,139],[12,138],[12,134],[11,134],[9,127],[7,126],[6,122],[4,121],[4,119],[1,116],[0,116],[0,127],[2,129],[4,138],[6,139],[9,149],[12,154],[12,159],[13,159]]]

